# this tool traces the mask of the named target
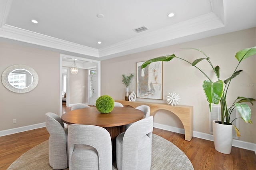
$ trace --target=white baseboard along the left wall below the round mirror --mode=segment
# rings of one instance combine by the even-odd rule
[[[33,130],[33,129],[36,129],[36,128],[42,128],[42,127],[45,127],[45,123],[38,123],[38,124],[35,124],[35,125],[29,125],[29,126],[25,126],[25,127],[18,127],[18,128],[7,129],[7,130],[1,130],[0,131],[0,136],[6,136],[6,135],[9,135],[9,134],[24,132],[24,131]]]

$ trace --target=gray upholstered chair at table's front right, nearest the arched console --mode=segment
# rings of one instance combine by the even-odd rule
[[[133,123],[116,137],[118,170],[149,170],[151,167],[153,116]]]

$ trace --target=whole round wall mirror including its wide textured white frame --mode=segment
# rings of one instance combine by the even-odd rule
[[[15,93],[26,93],[38,84],[38,75],[34,69],[26,65],[12,65],[2,74],[3,85]]]

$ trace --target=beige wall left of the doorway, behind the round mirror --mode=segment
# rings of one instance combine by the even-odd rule
[[[28,93],[14,93],[0,83],[0,130],[44,123],[46,112],[59,114],[59,58],[59,53],[0,42],[1,75],[11,65],[24,64],[39,77],[37,87]]]

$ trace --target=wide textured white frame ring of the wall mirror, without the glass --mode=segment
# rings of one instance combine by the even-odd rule
[[[27,70],[28,72],[30,72],[33,76],[34,81],[32,82],[32,84],[24,89],[18,89],[16,87],[13,87],[12,85],[10,85],[9,81],[8,81],[8,75],[16,70],[16,69],[24,69]],[[4,72],[2,73],[2,83],[3,85],[10,91],[13,91],[15,93],[27,93],[31,90],[33,90],[37,84],[38,84],[38,75],[36,73],[36,71],[34,69],[32,69],[31,67],[27,66],[27,65],[22,65],[22,64],[16,64],[16,65],[12,65],[10,67],[7,67]]]

